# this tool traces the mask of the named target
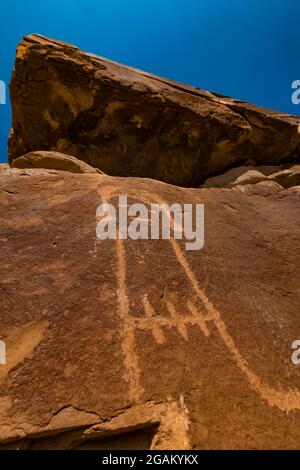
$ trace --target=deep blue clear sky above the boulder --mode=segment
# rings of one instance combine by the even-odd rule
[[[5,0],[0,80],[33,32],[164,77],[300,115],[299,0]],[[7,160],[9,103],[0,105],[0,161]]]

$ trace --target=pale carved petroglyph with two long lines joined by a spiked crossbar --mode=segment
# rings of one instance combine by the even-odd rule
[[[107,202],[111,197],[119,193],[119,189],[112,186],[100,187],[99,194],[103,198],[103,202]],[[166,204],[166,201],[161,199],[155,194],[151,194],[148,191],[139,191],[135,194],[132,191],[131,197],[142,201],[145,204],[151,202],[158,204]],[[178,260],[183,272],[189,280],[191,287],[196,294],[197,298],[201,301],[206,314],[200,313],[192,302],[188,302],[188,310],[190,315],[186,317],[179,316],[176,313],[174,305],[169,303],[167,305],[170,317],[162,317],[155,315],[153,307],[149,302],[147,296],[142,299],[143,307],[145,311],[144,318],[134,318],[129,312],[129,302],[127,297],[126,288],[126,252],[125,252],[125,241],[117,240],[117,256],[118,256],[118,301],[119,301],[119,312],[120,317],[124,322],[123,332],[123,352],[125,356],[125,366],[127,370],[126,379],[129,383],[129,391],[132,400],[138,402],[141,399],[143,389],[140,385],[140,369],[138,365],[138,356],[136,353],[135,346],[135,329],[141,328],[145,330],[151,330],[154,338],[158,343],[165,341],[162,327],[163,326],[174,326],[178,332],[187,339],[187,324],[198,325],[202,330],[203,334],[208,337],[209,322],[216,327],[217,331],[222,338],[222,341],[228,351],[231,353],[237,367],[247,378],[251,388],[270,406],[276,406],[281,411],[291,411],[300,409],[300,391],[298,389],[287,389],[274,388],[264,384],[261,379],[251,370],[247,361],[242,357],[239,352],[233,338],[229,334],[224,321],[221,318],[220,312],[215,308],[212,302],[208,299],[204,290],[199,286],[198,280],[192,271],[183,250],[181,249],[178,241],[174,238],[169,240],[173,252]]]

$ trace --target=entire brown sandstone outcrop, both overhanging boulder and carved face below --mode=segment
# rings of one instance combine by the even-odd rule
[[[36,35],[11,94],[0,449],[299,448],[299,120]],[[204,248],[98,240],[120,195],[204,204]]]

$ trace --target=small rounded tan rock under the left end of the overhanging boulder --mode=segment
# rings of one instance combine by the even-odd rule
[[[45,168],[72,173],[102,173],[78,158],[59,152],[30,152],[11,163],[13,168]]]

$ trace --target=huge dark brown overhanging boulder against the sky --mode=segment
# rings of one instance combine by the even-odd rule
[[[299,161],[300,119],[27,36],[11,80],[10,161],[35,150],[111,175],[198,186],[249,161]]]

